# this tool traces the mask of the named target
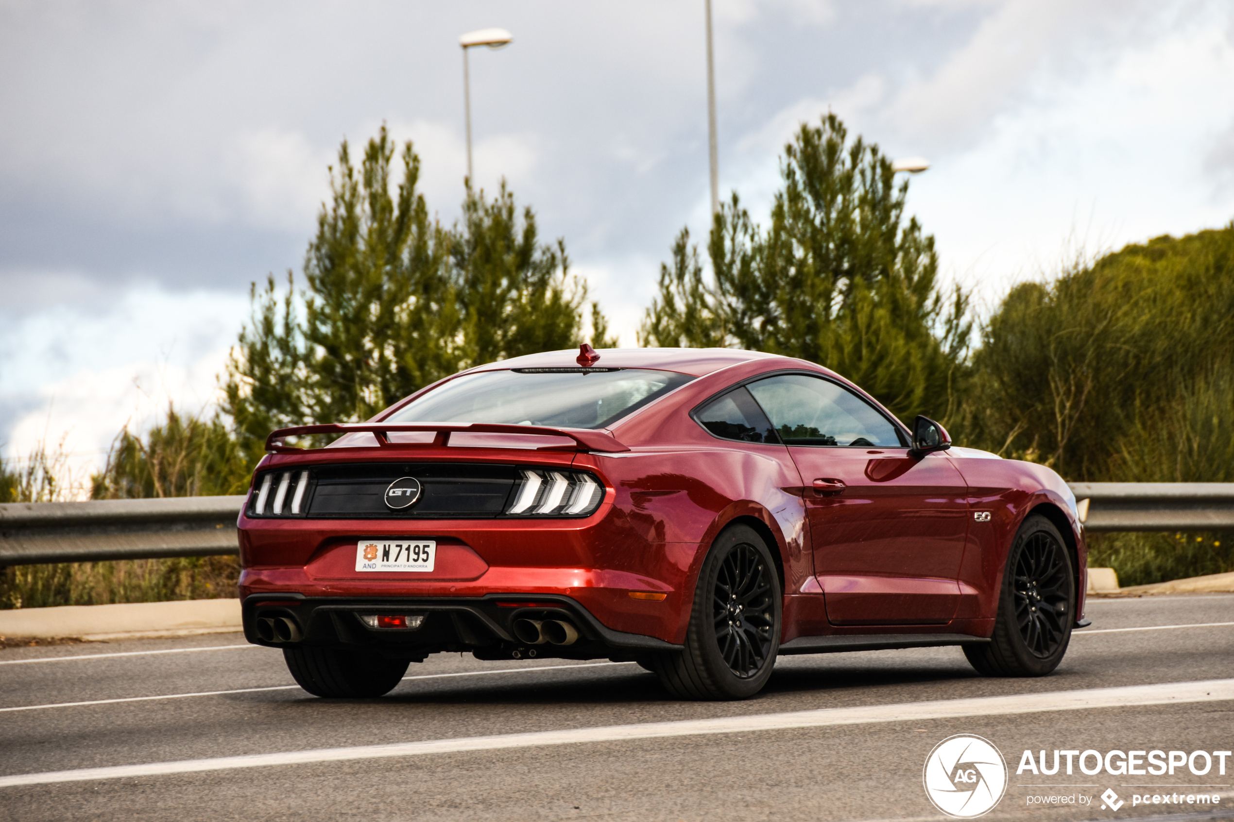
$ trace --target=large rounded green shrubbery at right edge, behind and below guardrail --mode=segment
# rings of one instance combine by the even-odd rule
[[[1013,288],[955,434],[1072,482],[1234,482],[1234,226]],[[1123,585],[1224,573],[1232,536],[1096,535],[1090,563]]]

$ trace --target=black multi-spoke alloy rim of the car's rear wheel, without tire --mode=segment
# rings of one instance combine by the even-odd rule
[[[740,679],[758,675],[772,646],[775,568],[769,564],[752,545],[738,545],[719,563],[712,589],[716,646]]]

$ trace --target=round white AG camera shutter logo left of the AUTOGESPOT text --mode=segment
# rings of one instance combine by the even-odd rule
[[[992,742],[958,733],[934,746],[922,769],[929,801],[948,816],[988,813],[1007,791],[1007,760]]]

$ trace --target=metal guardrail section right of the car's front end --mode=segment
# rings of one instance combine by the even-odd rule
[[[1234,482],[1074,482],[1087,531],[1234,531]]]

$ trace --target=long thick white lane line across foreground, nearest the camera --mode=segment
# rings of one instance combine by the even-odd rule
[[[1234,679],[1130,685],[1124,688],[1093,688],[1091,690],[1016,694],[1011,696],[979,696],[972,699],[950,699],[930,702],[861,705],[858,707],[833,707],[812,711],[792,711],[786,714],[755,714],[753,716],[726,716],[710,720],[612,725],[606,727],[573,728],[568,731],[537,731],[532,733],[506,733],[501,736],[486,737],[428,739],[424,742],[396,742],[394,744],[357,746],[350,748],[318,748],[313,751],[258,753],[243,757],[217,757],[213,759],[155,762],[142,765],[83,768],[80,770],[57,770],[42,774],[15,774],[12,776],[0,776],[0,787],[11,787],[15,785],[46,785],[49,783],[73,783],[91,779],[117,779],[122,776],[158,776],[165,774],[225,770],[230,768],[262,768],[269,765],[292,765],[317,762],[415,757],[433,753],[459,753],[466,751],[500,751],[506,748],[531,748],[555,744],[575,744],[582,742],[622,742],[627,739],[652,739],[711,733],[745,733],[754,731],[781,731],[835,725],[865,725],[872,722],[918,722],[921,720],[942,720],[961,716],[1037,714],[1098,707],[1129,707],[1138,705],[1209,702],[1222,700],[1234,700]]]

